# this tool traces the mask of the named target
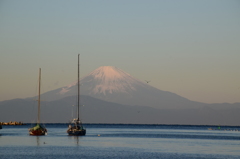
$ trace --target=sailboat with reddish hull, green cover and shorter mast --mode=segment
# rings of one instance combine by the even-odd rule
[[[40,88],[41,88],[41,68],[39,68],[39,88],[38,88],[38,118],[34,127],[29,128],[29,135],[39,136],[46,135],[47,129],[40,123]]]

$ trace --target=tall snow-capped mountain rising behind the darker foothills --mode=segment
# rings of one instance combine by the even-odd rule
[[[77,94],[77,82],[47,93],[42,97],[57,100]],[[124,105],[154,108],[195,108],[202,103],[193,102],[177,94],[161,91],[113,66],[102,66],[80,80],[81,95]]]

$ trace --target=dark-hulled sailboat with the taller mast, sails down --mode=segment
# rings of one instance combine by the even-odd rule
[[[79,81],[79,54],[78,54],[78,107],[77,107],[77,118],[74,118],[69,123],[67,133],[70,136],[84,136],[86,129],[83,127],[82,122],[79,119],[79,103],[80,103],[80,81]]]

